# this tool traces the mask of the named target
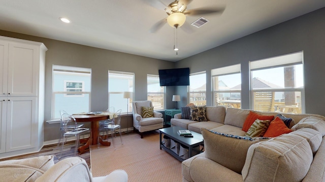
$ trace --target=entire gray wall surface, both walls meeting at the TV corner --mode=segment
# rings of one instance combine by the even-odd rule
[[[325,8],[253,33],[217,48],[194,55],[176,63],[91,48],[84,45],[29,36],[0,30],[0,35],[43,42],[46,52],[45,120],[51,118],[52,65],[88,67],[92,69],[91,110],[108,107],[108,70],[135,73],[135,100],[147,99],[147,74],[158,74],[158,69],[189,67],[190,72],[207,71],[207,105],[211,105],[212,68],[241,63],[242,107],[249,108],[248,62],[283,54],[304,51],[306,113],[325,115]],[[217,35],[216,35],[217,36]],[[174,108],[172,95],[181,95],[179,107],[187,104],[187,87],[167,87],[166,107]],[[104,101],[104,102],[103,102]],[[125,120],[123,118],[126,127]],[[132,118],[129,118],[129,126]],[[45,124],[44,141],[57,139],[58,124]]]

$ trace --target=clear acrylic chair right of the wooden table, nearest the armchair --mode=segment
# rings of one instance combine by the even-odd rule
[[[104,122],[106,121],[106,122]],[[118,129],[118,133],[120,134],[120,139],[121,139],[121,143],[123,144],[123,141],[122,141],[122,135],[121,135],[121,109],[116,111],[116,113],[114,114],[113,118],[112,119],[107,119],[107,120],[104,120],[103,121],[103,124],[99,126],[99,133],[101,132],[104,132],[104,135],[103,137],[99,134],[99,137],[98,137],[98,148],[100,147],[100,140],[108,140],[108,134],[109,134],[109,131],[111,131],[111,138],[112,138],[112,143],[113,143],[113,147],[114,147],[114,150],[116,150],[115,148],[115,144],[114,144],[114,138],[115,138],[115,133],[116,133],[116,130]]]

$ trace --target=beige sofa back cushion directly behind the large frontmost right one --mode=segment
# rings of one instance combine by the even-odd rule
[[[311,129],[311,128],[301,128],[301,129],[293,131],[289,134],[296,134],[296,135],[299,135],[299,136],[302,136],[303,138],[305,138],[310,145],[313,155],[316,154],[316,152],[322,142],[321,133],[314,129]]]

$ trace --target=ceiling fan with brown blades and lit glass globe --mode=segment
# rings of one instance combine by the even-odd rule
[[[187,6],[192,1],[193,0],[175,0],[174,2],[169,4],[167,8],[165,8],[168,17],[154,24],[154,26],[151,28],[151,32],[156,32],[166,23],[168,23],[171,27],[175,27],[175,28],[181,27],[186,21],[186,16],[222,13],[225,9],[224,7],[221,7],[221,8],[204,8],[204,9],[199,8],[199,9],[187,10]]]

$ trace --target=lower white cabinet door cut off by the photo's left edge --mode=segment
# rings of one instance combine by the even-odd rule
[[[0,153],[6,152],[7,97],[0,97]]]

